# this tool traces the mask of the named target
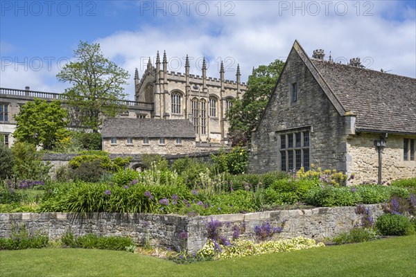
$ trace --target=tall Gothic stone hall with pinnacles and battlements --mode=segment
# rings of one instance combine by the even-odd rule
[[[236,82],[224,79],[221,62],[220,78],[207,78],[205,59],[202,75],[189,73],[189,57],[185,62],[185,73],[168,72],[166,52],[160,62],[159,52],[156,66],[149,62],[144,75],[139,79],[135,72],[135,100],[153,103],[152,111],[144,111],[138,117],[156,119],[189,119],[194,125],[196,141],[200,143],[227,143],[229,123],[225,112],[232,100],[243,95],[245,83],[241,82],[237,65]]]

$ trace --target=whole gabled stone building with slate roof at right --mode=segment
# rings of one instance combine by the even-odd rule
[[[416,177],[416,79],[310,58],[295,41],[252,135],[251,172],[311,164],[350,184]]]

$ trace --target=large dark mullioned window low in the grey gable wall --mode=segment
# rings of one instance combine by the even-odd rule
[[[280,134],[280,170],[309,170],[309,130]]]

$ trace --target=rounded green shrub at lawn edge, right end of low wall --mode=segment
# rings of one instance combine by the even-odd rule
[[[376,229],[381,235],[410,235],[415,233],[412,223],[404,215],[385,213],[376,221]]]

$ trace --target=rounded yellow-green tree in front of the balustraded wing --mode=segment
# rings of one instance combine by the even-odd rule
[[[13,136],[17,141],[52,149],[61,139],[69,135],[67,126],[68,111],[61,107],[59,100],[50,103],[35,98],[21,106],[15,116],[17,123]]]

